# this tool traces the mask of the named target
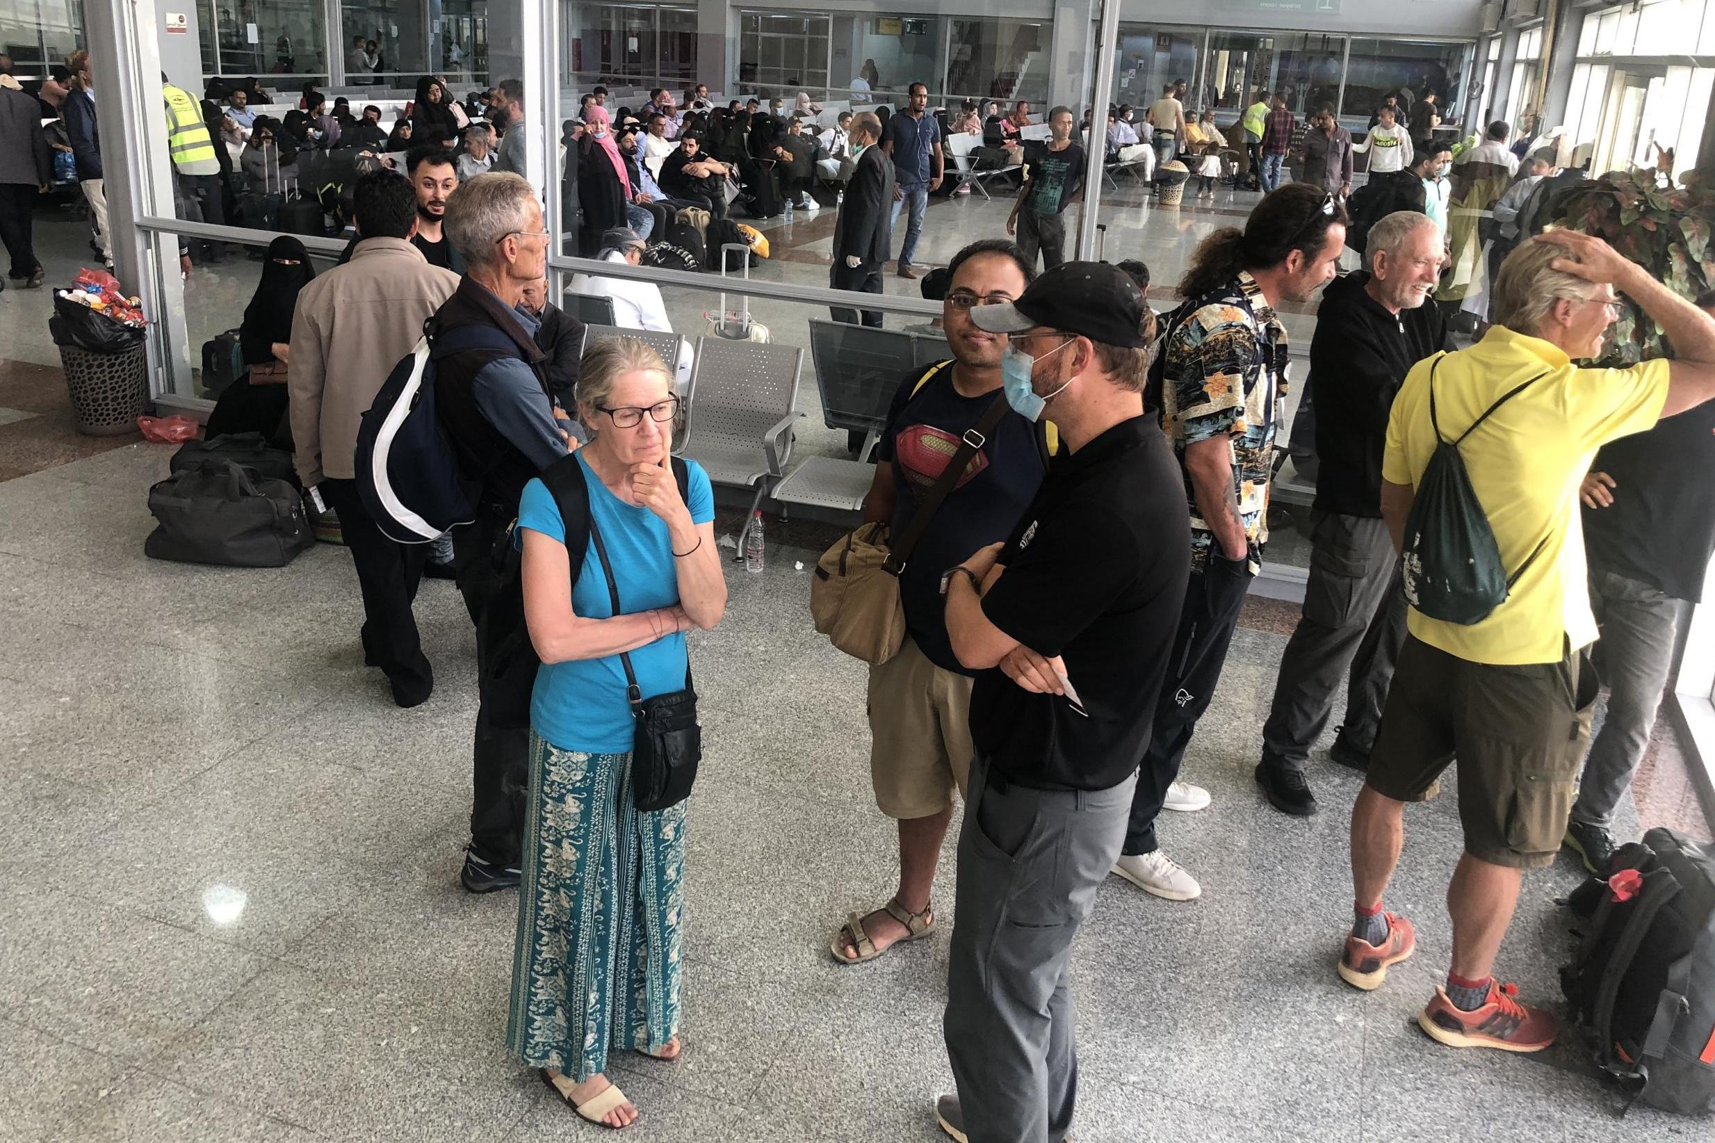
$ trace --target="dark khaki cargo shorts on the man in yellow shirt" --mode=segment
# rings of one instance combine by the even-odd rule
[[[1406,637],[1369,784],[1398,801],[1435,796],[1458,759],[1465,851],[1509,868],[1554,862],[1573,810],[1600,683],[1590,659],[1470,662]]]

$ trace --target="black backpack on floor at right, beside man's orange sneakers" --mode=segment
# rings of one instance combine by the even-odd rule
[[[1652,829],[1568,906],[1586,928],[1561,989],[1597,1064],[1643,1104],[1715,1112],[1715,851]]]

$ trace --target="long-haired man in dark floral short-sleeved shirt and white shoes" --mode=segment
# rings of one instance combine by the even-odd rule
[[[1286,400],[1286,331],[1274,307],[1305,302],[1331,281],[1345,240],[1346,215],[1334,196],[1309,184],[1281,187],[1243,230],[1202,240],[1180,283],[1187,300],[1166,319],[1161,386],[1151,400],[1161,403],[1185,474],[1192,575],[1113,870],[1170,901],[1190,901],[1202,887],[1161,853],[1156,817],[1209,805],[1206,789],[1178,781],[1180,762],[1214,697],[1269,539],[1269,470]]]

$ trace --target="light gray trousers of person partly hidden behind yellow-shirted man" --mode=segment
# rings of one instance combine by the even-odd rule
[[[1614,807],[1650,747],[1688,604],[1648,584],[1590,568],[1590,608],[1602,628],[1597,668],[1609,685],[1609,705],[1585,759],[1573,820],[1609,829]]]

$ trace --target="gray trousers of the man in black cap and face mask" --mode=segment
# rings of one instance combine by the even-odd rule
[[[1135,784],[1027,789],[971,760],[942,1023],[971,1143],[1060,1143],[1072,1126],[1072,937],[1120,856]]]

